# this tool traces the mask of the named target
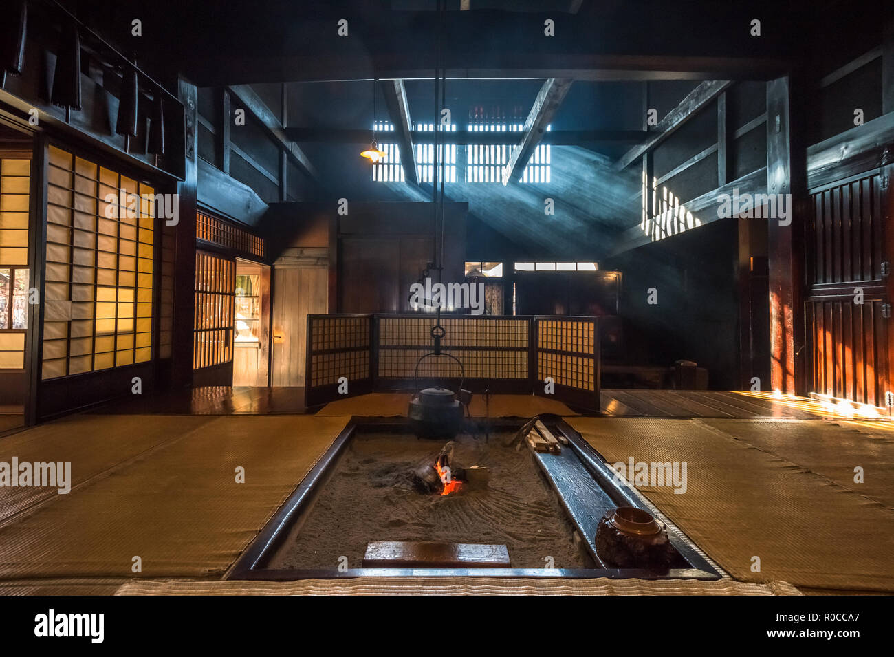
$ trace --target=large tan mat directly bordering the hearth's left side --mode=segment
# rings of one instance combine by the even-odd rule
[[[232,416],[198,425],[0,528],[0,579],[132,577],[134,557],[145,577],[223,574],[346,424]],[[235,480],[238,467],[245,483]]]

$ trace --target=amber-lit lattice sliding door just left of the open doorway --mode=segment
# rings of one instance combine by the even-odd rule
[[[193,369],[220,365],[232,360],[235,302],[235,261],[197,251]]]

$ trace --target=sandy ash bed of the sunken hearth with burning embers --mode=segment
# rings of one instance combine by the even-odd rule
[[[530,451],[503,446],[511,438],[359,434],[268,568],[335,570],[346,557],[356,569],[381,542],[505,545],[512,568],[592,567]]]

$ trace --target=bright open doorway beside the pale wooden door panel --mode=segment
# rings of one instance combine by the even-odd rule
[[[232,384],[266,386],[270,364],[270,267],[236,258]]]

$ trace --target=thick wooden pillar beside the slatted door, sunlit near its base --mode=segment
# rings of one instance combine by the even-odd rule
[[[797,80],[797,79],[796,79]],[[793,88],[795,92],[793,93]],[[770,267],[770,378],[772,390],[805,394],[804,226],[806,148],[800,103],[803,87],[786,76],[767,82],[767,192],[790,195],[788,225],[768,224]],[[780,198],[780,197],[777,197]],[[777,206],[779,206],[777,200]]]

